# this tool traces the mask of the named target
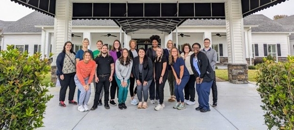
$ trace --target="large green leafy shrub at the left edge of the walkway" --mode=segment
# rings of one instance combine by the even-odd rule
[[[50,54],[51,57],[52,54]],[[41,54],[28,56],[7,45],[0,52],[0,130],[33,130],[43,126],[52,83],[41,81],[51,67]]]

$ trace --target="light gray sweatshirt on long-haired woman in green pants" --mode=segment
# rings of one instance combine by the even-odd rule
[[[121,82],[127,82],[132,72],[133,61],[129,65],[122,65],[120,60],[115,62],[115,74]]]

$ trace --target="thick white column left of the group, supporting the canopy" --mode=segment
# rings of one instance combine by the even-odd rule
[[[54,18],[54,38],[52,44],[53,59],[51,63],[51,82],[55,82],[57,77],[56,57],[62,51],[63,45],[72,39],[72,16],[73,3],[71,0],[56,0]]]

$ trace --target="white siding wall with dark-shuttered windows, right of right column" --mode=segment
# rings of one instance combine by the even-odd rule
[[[281,44],[281,57],[287,57],[289,55],[288,49],[288,34],[257,34],[252,33],[252,44],[258,44],[259,56],[264,57],[264,47],[263,44]],[[293,47],[293,45],[292,45]]]

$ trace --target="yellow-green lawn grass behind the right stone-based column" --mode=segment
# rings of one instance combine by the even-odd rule
[[[251,82],[256,82],[255,80],[255,72],[257,70],[248,69],[248,79]],[[220,79],[228,81],[228,70],[227,69],[216,69],[216,76]]]

